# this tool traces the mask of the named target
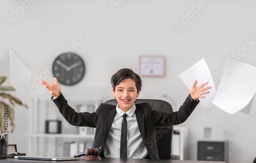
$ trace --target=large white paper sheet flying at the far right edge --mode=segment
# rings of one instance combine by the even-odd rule
[[[219,89],[212,103],[233,114],[249,106],[256,91],[256,67],[243,62],[226,63]],[[248,109],[248,108],[247,108]]]

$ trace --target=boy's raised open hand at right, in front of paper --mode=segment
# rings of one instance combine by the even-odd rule
[[[191,89],[189,91],[191,98],[196,100],[196,101],[198,100],[198,98],[205,98],[202,95],[209,93],[209,91],[206,91],[206,90],[211,89],[211,87],[203,88],[208,83],[209,82],[205,82],[205,83],[201,84],[200,86],[196,87],[197,80],[195,80],[193,86],[191,87]]]

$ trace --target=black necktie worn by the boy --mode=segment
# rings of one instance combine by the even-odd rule
[[[127,114],[123,115],[120,143],[120,158],[127,158]]]

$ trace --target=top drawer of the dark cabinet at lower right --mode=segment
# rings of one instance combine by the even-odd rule
[[[224,142],[198,142],[198,152],[224,152]]]

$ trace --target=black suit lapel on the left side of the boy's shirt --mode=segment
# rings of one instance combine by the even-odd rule
[[[116,115],[116,106],[110,110],[105,117],[105,126],[104,126],[104,143],[106,142],[106,138],[108,138],[110,128],[112,126],[112,123],[114,121]]]

